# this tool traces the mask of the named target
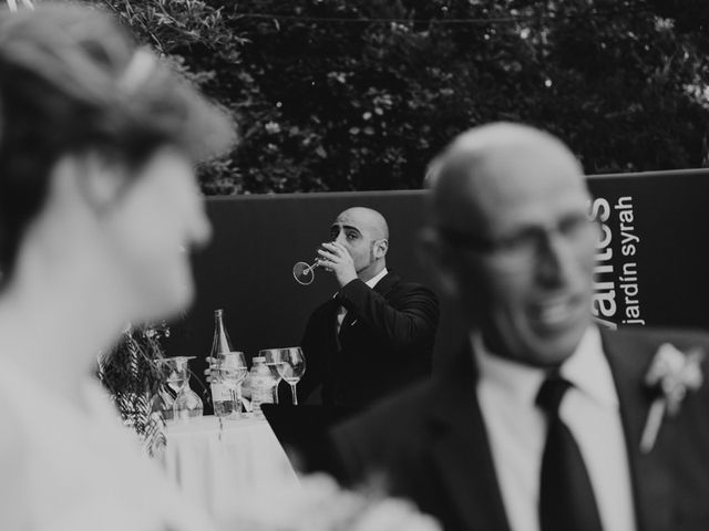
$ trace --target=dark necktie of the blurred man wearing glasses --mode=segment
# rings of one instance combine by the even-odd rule
[[[540,524],[542,531],[602,531],[584,459],[558,416],[559,404],[571,386],[558,375],[549,375],[536,397],[548,420],[542,457]]]

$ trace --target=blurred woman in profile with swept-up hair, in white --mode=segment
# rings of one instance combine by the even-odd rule
[[[193,298],[193,165],[233,125],[109,15],[0,11],[0,529],[209,529],[92,378]]]

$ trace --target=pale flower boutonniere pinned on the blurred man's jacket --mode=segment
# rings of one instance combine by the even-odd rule
[[[669,343],[664,343],[657,350],[650,368],[645,375],[645,384],[657,394],[650,406],[640,438],[640,451],[649,454],[655,446],[657,434],[662,425],[665,415],[674,417],[688,391],[698,389],[702,382],[701,362],[705,353],[693,348],[687,353],[679,351]]]

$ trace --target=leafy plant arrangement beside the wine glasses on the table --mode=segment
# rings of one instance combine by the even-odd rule
[[[166,442],[165,418],[160,409],[154,410],[151,400],[162,385],[156,361],[165,357],[164,342],[168,336],[165,322],[130,325],[112,350],[99,354],[99,379],[151,457]]]

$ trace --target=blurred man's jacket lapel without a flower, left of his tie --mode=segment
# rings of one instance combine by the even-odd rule
[[[433,457],[465,529],[508,530],[507,518],[482,412],[475,393],[476,372],[470,347],[462,350],[449,374],[441,375],[430,407],[435,426]]]

